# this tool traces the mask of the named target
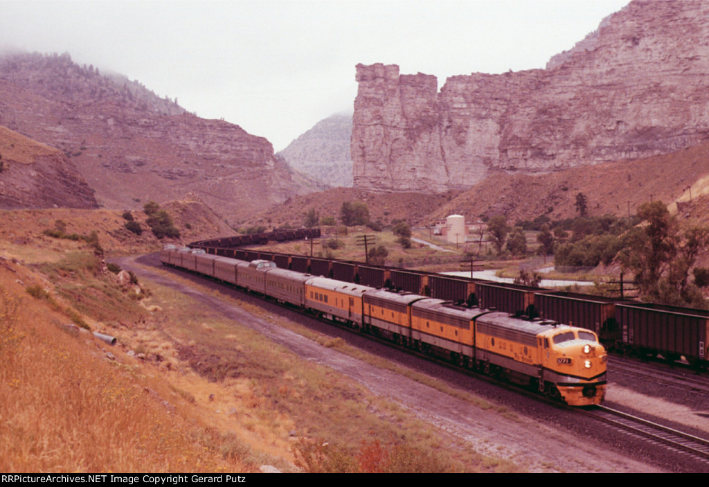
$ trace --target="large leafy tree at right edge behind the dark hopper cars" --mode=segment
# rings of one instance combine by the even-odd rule
[[[709,245],[709,229],[681,230],[677,219],[660,201],[643,203],[637,211],[644,222],[623,237],[618,261],[635,274],[643,298],[674,305],[705,307],[697,284],[689,280],[697,257]],[[695,274],[696,276],[697,274]]]

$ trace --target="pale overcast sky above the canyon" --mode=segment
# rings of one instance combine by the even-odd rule
[[[0,49],[68,52],[276,152],[352,113],[355,66],[446,77],[545,67],[628,0],[0,0]]]

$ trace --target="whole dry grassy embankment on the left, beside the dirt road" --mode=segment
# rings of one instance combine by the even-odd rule
[[[347,464],[366,450],[379,468],[381,445],[428,459],[407,464],[412,471],[489,471],[469,444],[183,293],[142,278],[148,290],[140,298],[119,289],[86,242],[42,235],[57,219],[67,233],[86,230],[56,211],[0,212],[0,222],[16,223],[0,228],[0,252],[23,255],[0,258],[0,471],[254,471],[260,464],[297,471],[294,445],[314,438],[337,445]],[[103,240],[103,231],[101,245],[116,245],[114,254],[135,243]],[[260,306],[227,301],[298,328]],[[118,345],[69,330],[72,320],[116,336]]]

